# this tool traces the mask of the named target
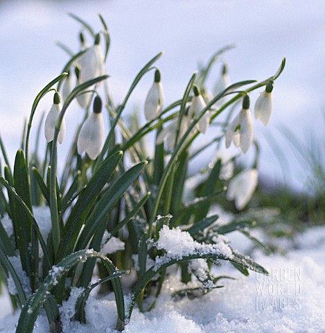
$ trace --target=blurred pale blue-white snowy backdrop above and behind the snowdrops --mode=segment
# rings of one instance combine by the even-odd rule
[[[274,85],[271,122],[264,128],[254,121],[261,145],[261,180],[270,187],[285,183],[294,191],[313,194],[313,165],[324,165],[325,150],[323,0],[0,1],[0,134],[12,162],[35,96],[69,60],[55,41],[78,50],[81,25],[67,12],[98,30],[98,12],[105,18],[112,37],[109,89],[116,103],[137,71],[161,50],[165,55],[157,66],[166,104],[182,96],[197,63],[222,46],[236,44],[222,58],[229,65],[231,83],[264,80],[286,56],[286,69]],[[217,64],[209,77],[211,86],[220,67]],[[129,111],[143,110],[151,83],[149,74],[134,91]],[[252,94],[253,103],[257,96],[258,92]],[[40,108],[50,107],[49,96]],[[78,112],[67,112],[67,139]],[[60,150],[64,153],[64,145]],[[248,154],[243,163],[249,158]]]

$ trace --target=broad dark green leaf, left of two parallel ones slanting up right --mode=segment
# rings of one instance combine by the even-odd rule
[[[100,194],[104,185],[112,177],[118,163],[123,156],[122,151],[118,151],[100,166],[100,169],[96,171],[94,176],[89,180],[89,183],[82,194],[80,194],[76,205],[73,206],[71,214],[67,223],[64,225],[62,232],[62,240],[59,246],[58,258],[63,258],[67,254],[71,253],[75,244],[80,229],[83,223],[85,223],[86,217],[93,207],[96,198]]]

